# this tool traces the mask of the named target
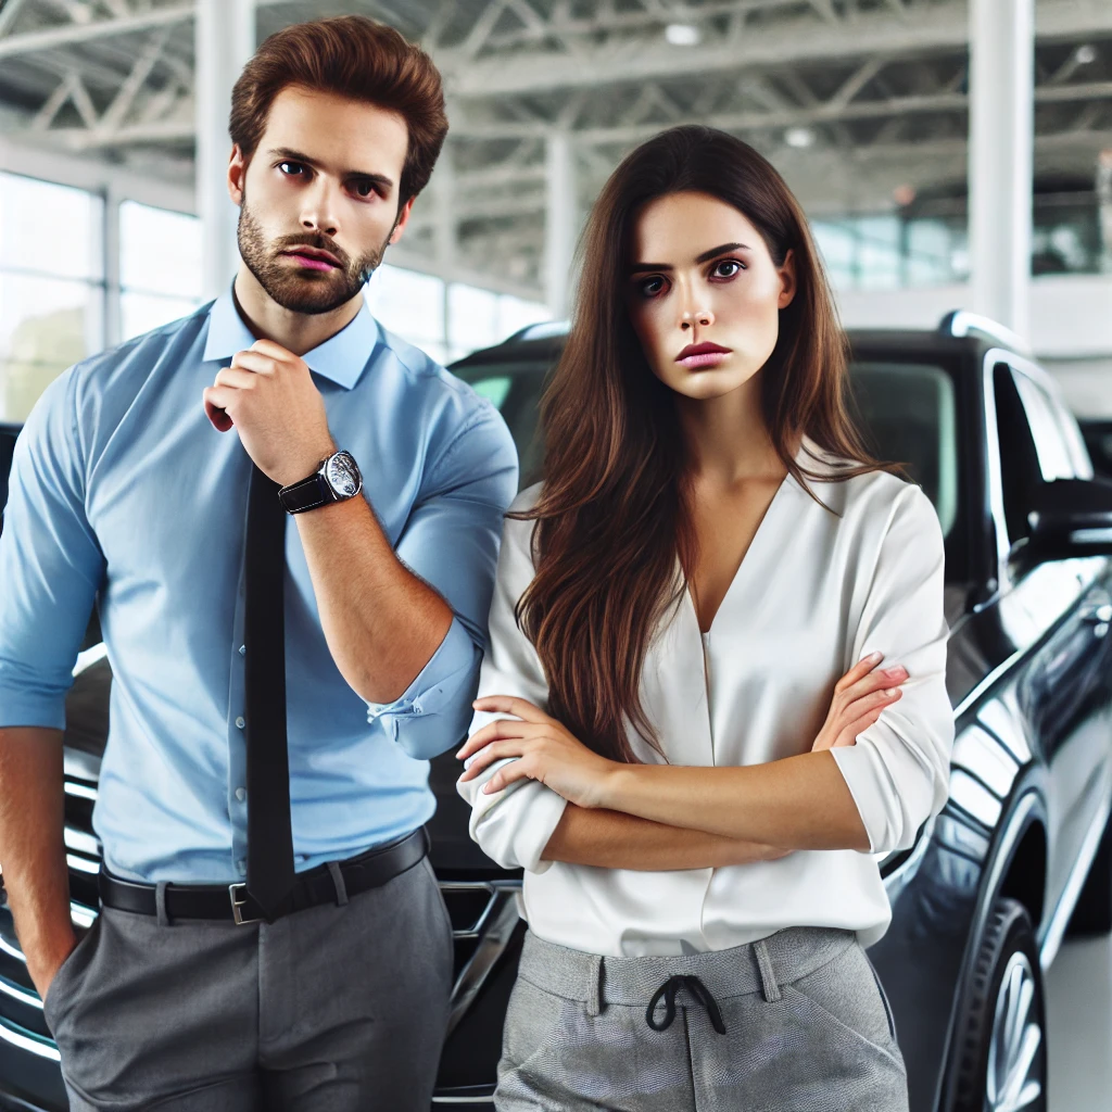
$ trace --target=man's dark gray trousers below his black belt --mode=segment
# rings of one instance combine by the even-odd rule
[[[272,924],[106,907],[44,1004],[72,1112],[428,1112],[453,966],[433,868],[338,888]]]

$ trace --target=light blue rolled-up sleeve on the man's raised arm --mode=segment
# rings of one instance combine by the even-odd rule
[[[427,761],[463,738],[471,716],[506,508],[517,490],[517,451],[505,421],[483,401],[433,465],[428,494],[398,538],[398,558],[454,612],[444,641],[393,703],[368,703],[411,757]]]

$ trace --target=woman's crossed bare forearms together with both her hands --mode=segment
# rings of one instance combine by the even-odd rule
[[[461,781],[516,757],[484,785],[544,783],[568,801],[543,860],[610,868],[705,868],[768,861],[793,850],[870,848],[857,805],[826,749],[857,734],[900,698],[907,674],[865,657],[835,685],[812,752],[762,765],[677,767],[608,761],[526,699],[488,696],[479,711],[513,714],[478,731],[457,754]],[[806,801],[801,806],[801,801]]]

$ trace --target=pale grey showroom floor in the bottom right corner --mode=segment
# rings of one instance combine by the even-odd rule
[[[1046,977],[1049,1112],[1112,1106],[1112,935],[1066,942]]]

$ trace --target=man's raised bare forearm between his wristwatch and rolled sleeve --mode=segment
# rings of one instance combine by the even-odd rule
[[[397,558],[365,498],[295,520],[336,666],[368,703],[393,703],[444,641],[451,607]]]

